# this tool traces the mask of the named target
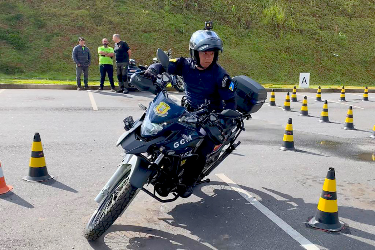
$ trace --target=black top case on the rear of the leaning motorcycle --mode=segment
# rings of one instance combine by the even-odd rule
[[[257,112],[267,99],[266,89],[246,75],[238,75],[232,80],[237,94],[237,110],[243,114]]]

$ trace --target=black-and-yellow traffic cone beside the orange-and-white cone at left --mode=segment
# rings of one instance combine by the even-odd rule
[[[40,182],[54,178],[54,176],[48,174],[39,133],[34,135],[29,166],[28,176],[22,178],[25,181]]]

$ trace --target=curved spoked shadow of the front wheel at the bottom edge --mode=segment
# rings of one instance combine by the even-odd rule
[[[104,236],[89,244],[95,250],[212,249],[184,235],[131,225],[113,225]]]

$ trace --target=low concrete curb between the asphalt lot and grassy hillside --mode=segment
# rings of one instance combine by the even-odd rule
[[[91,89],[95,90],[99,85],[89,85]],[[7,84],[0,83],[0,89],[71,89],[76,90],[76,85],[66,85],[66,84]],[[176,91],[172,87],[166,88],[168,91]],[[346,93],[363,93],[363,89],[345,89]],[[104,86],[104,90],[111,90],[110,86]],[[273,89],[275,92],[292,92],[293,89]],[[321,89],[322,93],[340,93],[341,89]],[[271,92],[272,89],[266,88],[267,92]],[[297,93],[316,93],[317,89],[297,89]],[[369,93],[375,93],[375,89],[369,89]]]

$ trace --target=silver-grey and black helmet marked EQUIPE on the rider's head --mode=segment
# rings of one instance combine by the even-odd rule
[[[215,51],[215,57],[212,62],[212,64],[214,64],[217,61],[219,51],[223,52],[223,41],[219,38],[216,32],[213,32],[210,29],[198,30],[191,36],[189,47],[190,57],[196,62],[198,66],[201,66],[198,56],[199,51]]]

